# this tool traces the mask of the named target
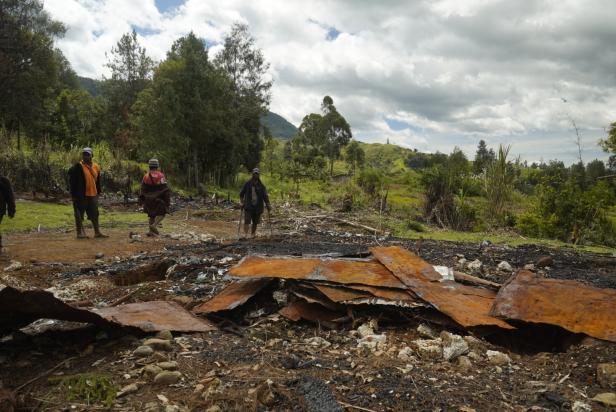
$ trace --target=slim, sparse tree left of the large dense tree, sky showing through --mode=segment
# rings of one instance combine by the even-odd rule
[[[114,136],[116,144],[132,157],[136,144],[129,130],[131,108],[139,93],[150,83],[154,62],[139,45],[134,30],[122,35],[107,58],[106,66],[111,69],[111,77],[103,79],[101,91],[107,105],[109,133]]]

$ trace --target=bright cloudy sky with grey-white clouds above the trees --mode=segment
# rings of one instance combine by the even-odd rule
[[[616,121],[613,0],[45,0],[82,76],[133,28],[162,60],[189,31],[211,53],[244,22],[271,64],[271,110],[299,125],[330,95],[365,142],[473,156],[512,145],[528,161],[607,156]]]

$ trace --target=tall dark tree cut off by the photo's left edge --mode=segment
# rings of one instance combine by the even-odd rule
[[[65,68],[54,39],[64,26],[52,20],[39,0],[0,0],[0,125],[33,131],[48,116]]]

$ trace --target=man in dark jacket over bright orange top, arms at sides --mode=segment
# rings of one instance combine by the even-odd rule
[[[92,162],[94,153],[91,148],[84,148],[81,154],[81,161],[75,163],[68,170],[73,211],[75,212],[77,239],[87,238],[83,228],[84,214],[92,222],[94,237],[104,238],[107,236],[101,233],[98,224],[98,195],[101,193],[101,169],[96,163]]]

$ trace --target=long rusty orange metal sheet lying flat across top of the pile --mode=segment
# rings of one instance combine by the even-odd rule
[[[360,284],[406,289],[392,273],[371,260],[266,258],[247,256],[229,270],[237,277],[274,277],[322,280],[341,284]]]

